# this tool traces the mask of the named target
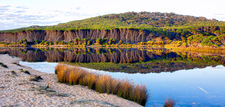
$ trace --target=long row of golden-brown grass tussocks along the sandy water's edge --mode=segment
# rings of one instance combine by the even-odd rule
[[[113,79],[109,75],[100,75],[64,64],[58,64],[55,72],[61,83],[88,86],[89,89],[94,89],[97,92],[115,94],[141,105],[145,105],[148,98],[145,86],[134,85],[128,80]]]

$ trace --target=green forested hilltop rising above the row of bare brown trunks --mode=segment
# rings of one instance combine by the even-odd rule
[[[157,29],[157,28],[191,28],[198,26],[225,26],[225,22],[205,17],[194,17],[178,15],[175,13],[160,12],[127,12],[120,14],[109,14],[61,23],[54,26],[30,26],[25,28],[7,30],[5,32],[18,32],[22,30],[77,30],[77,29],[100,29],[113,28],[135,28],[135,29]]]

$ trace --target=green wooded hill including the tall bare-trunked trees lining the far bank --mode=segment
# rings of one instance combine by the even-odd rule
[[[185,46],[188,44],[196,46],[196,43],[198,45],[206,39],[202,44],[223,46],[225,22],[174,13],[127,12],[76,20],[55,26],[31,26],[1,31],[0,36],[0,41],[3,42],[18,42],[25,38],[28,41],[52,42],[69,42],[75,38],[106,38],[116,39],[117,42],[122,40],[125,43],[183,41],[186,42]],[[179,42],[173,44],[180,45]]]

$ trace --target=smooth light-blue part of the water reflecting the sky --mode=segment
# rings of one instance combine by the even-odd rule
[[[54,73],[54,68],[57,65],[57,63],[22,61],[20,64],[47,73]],[[179,70],[173,73],[148,74],[87,70],[146,85],[150,93],[147,106],[162,106],[167,97],[178,101],[177,106],[225,106],[225,67],[222,65]]]

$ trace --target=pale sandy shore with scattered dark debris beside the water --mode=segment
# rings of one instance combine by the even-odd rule
[[[58,83],[55,74],[19,65],[19,61],[20,58],[0,54],[0,62],[3,63],[0,64],[0,106],[141,106],[115,95],[97,93],[84,86]],[[21,72],[21,69],[30,75]],[[42,79],[34,80],[35,75]]]

